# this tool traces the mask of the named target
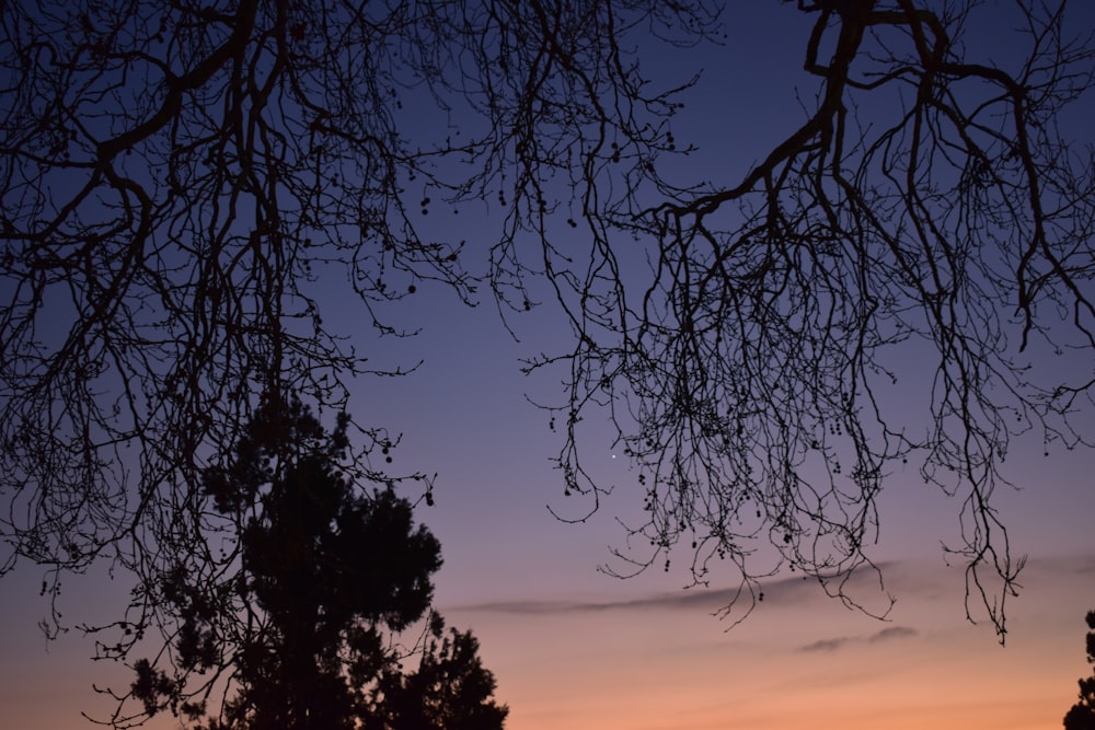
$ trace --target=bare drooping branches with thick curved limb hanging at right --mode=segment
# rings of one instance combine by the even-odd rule
[[[878,495],[913,460],[959,506],[946,549],[966,566],[967,615],[1003,640],[1023,558],[993,507],[1002,463],[1022,432],[1085,443],[1070,418],[1090,413],[1095,384],[1092,153],[1064,126],[1092,84],[1092,28],[1063,2],[798,4],[817,13],[803,37],[816,94],[728,179],[660,166],[656,153],[688,146],[632,116],[646,86],[558,48],[572,81],[552,108],[587,130],[561,167],[589,246],[579,260],[574,234],[552,228],[535,205],[544,165],[526,163],[528,205],[494,275],[520,280],[507,266],[520,233],[541,240],[534,273],[575,345],[529,367],[561,364],[569,383],[569,493],[596,509],[606,487],[579,455],[591,412],[608,410],[639,466],[647,519],[629,525],[625,566],[668,569],[681,546],[698,582],[736,566],[749,606],[787,568],[855,603],[844,589],[875,570]],[[981,26],[1010,34],[1004,65],[967,50]],[[514,113],[540,120],[523,138],[540,147],[543,95]],[[534,160],[552,159],[549,139]],[[1045,357],[1060,364],[1031,367]],[[922,414],[897,397],[909,389]]]

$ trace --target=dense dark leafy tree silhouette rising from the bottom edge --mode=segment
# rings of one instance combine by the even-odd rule
[[[164,708],[197,719],[216,690],[227,702],[209,730],[503,727],[474,637],[453,629],[438,648],[440,545],[391,486],[362,493],[342,472],[346,425],[327,434],[299,402],[267,401],[232,459],[205,472],[210,517],[155,601],[164,650],[135,663],[114,725]],[[424,647],[392,640],[423,619]]]

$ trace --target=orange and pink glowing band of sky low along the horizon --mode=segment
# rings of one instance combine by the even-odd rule
[[[641,609],[445,612],[480,637],[509,730],[1047,730],[1061,727],[1088,669],[1092,568],[1091,558],[1030,566],[1005,648],[963,622],[954,586],[912,570],[896,571],[899,601],[886,623],[808,591],[765,602],[728,633],[671,593]],[[91,727],[79,711],[105,707],[90,688],[102,668],[66,656],[68,644],[45,653],[37,639],[22,667],[5,662],[2,727]],[[158,718],[147,727],[180,726]]]

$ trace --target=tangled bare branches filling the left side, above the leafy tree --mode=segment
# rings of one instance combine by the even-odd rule
[[[625,10],[636,28],[698,12]],[[549,103],[556,44],[608,58],[613,30],[584,21],[506,2],[3,5],[0,575],[47,570],[53,628],[67,572],[132,575],[125,614],[83,628],[100,658],[145,668],[139,698],[189,702],[180,611],[240,609],[200,475],[261,397],[299,393],[330,413],[350,378],[405,372],[373,364],[383,340],[324,321],[332,289],[381,337],[413,329],[387,304],[423,281],[472,297],[460,237],[426,239],[415,221],[500,197],[515,159],[540,164],[506,100]],[[542,120],[558,139],[584,132]],[[350,475],[400,482],[372,466],[397,437],[359,426],[356,440]],[[430,479],[407,479],[429,502]],[[168,595],[180,556],[201,577],[183,609]],[[135,661],[158,635],[159,660]],[[139,719],[119,707],[111,722]]]

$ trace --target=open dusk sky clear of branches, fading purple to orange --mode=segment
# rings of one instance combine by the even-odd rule
[[[808,23],[789,4],[765,8],[733,14],[731,38],[742,42],[717,57],[722,68],[751,70],[719,83],[740,84],[738,97],[759,111],[726,114],[727,95],[714,92],[690,102],[693,121],[685,124],[695,125],[698,138],[718,125],[750,140],[740,160],[725,162],[729,169],[747,165],[756,157],[750,151],[791,128],[783,115],[794,107],[793,86],[781,80],[800,65]],[[788,16],[786,31],[772,25]],[[794,53],[749,66],[758,39],[774,33],[793,36]],[[497,698],[510,708],[510,730],[1061,727],[1076,680],[1091,672],[1083,618],[1095,609],[1095,453],[1046,456],[1039,440],[1019,442],[1008,461],[1023,488],[1000,493],[999,507],[1015,552],[1028,563],[1008,606],[1005,647],[990,626],[966,619],[963,566],[948,566],[940,548],[954,542],[958,506],[921,484],[914,465],[890,478],[880,506],[872,556],[896,599],[885,621],[791,576],[765,584],[764,602],[729,628],[713,614],[733,576],[716,573],[710,589],[684,590],[687,576],[676,571],[619,580],[597,569],[612,565],[610,548],[623,544],[614,518],[641,501],[607,429],[600,444],[593,432],[589,453],[602,452],[595,468],[616,490],[585,523],[552,517],[551,509],[580,508],[563,497],[549,461],[558,437],[526,395],[552,393],[556,384],[522,376],[519,361],[554,336],[553,325],[526,321],[515,341],[488,303],[466,309],[448,292],[424,288],[413,306],[426,328],[384,355],[406,362],[424,357],[424,364],[407,378],[359,381],[350,410],[404,434],[393,468],[439,474],[436,505],[418,514],[445,555],[437,605],[451,625],[480,639]],[[45,641],[36,628],[48,609],[38,581],[23,566],[2,583],[0,728],[91,727],[81,710],[102,715],[108,707],[92,683],[118,686],[128,675],[88,661],[92,638],[77,630]],[[868,605],[885,604],[877,586],[855,589]],[[94,575],[66,584],[62,607],[79,618],[113,615],[125,596],[124,576]]]

